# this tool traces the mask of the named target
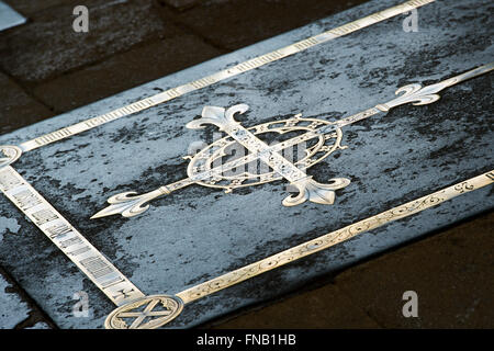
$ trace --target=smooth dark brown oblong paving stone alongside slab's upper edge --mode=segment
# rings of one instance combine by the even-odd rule
[[[191,52],[195,54],[190,55]],[[220,54],[203,41],[183,34],[139,46],[100,64],[63,75],[37,86],[33,91],[57,111],[69,111]]]

